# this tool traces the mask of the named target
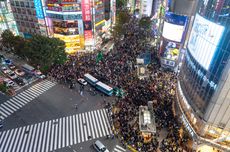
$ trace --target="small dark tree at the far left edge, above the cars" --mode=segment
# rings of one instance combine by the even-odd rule
[[[5,30],[1,34],[2,45],[10,50],[13,48],[14,34],[10,30]]]

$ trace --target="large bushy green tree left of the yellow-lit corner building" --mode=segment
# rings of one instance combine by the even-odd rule
[[[65,42],[57,38],[34,35],[25,52],[31,62],[44,67],[66,61]]]

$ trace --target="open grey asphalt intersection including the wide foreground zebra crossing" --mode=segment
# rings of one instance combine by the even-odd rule
[[[51,84],[51,82],[49,83]],[[34,86],[35,84],[33,84]],[[111,133],[111,130],[109,129],[109,117],[106,115],[106,109],[104,109],[104,99],[106,102],[113,102],[114,97],[104,97],[100,93],[92,96],[87,91],[90,86],[85,87],[83,96],[81,96],[78,92],[80,88],[78,84],[74,90],[60,84],[52,85],[47,90],[44,90],[46,87],[48,87],[47,84],[45,87],[43,86],[43,92],[38,97],[31,99],[31,101],[27,97],[28,103],[26,102],[20,109],[12,112],[4,119],[4,127],[0,130],[2,136],[0,138],[0,145],[2,145],[2,147],[0,146],[0,151],[23,150],[26,152],[30,151],[30,149],[40,151],[44,148],[44,150],[58,152],[90,152],[95,151],[92,148],[92,143],[97,139],[100,139],[110,151],[119,149],[117,139],[106,139],[105,136]],[[24,88],[21,90],[21,94],[28,93],[26,90],[30,88]],[[41,87],[37,87],[37,90],[39,88]],[[20,98],[22,97],[20,96]],[[9,101],[9,98],[4,95],[0,95],[0,99],[1,103]],[[77,104],[77,109],[75,104]],[[11,110],[13,109],[11,107]],[[103,127],[97,131],[99,123]],[[78,127],[78,125],[82,127]],[[80,128],[80,130],[76,128]],[[17,145],[21,146],[17,149],[17,147],[14,147],[16,142],[11,144],[11,139],[16,141],[19,133],[21,134]],[[75,133],[76,137],[72,133]],[[21,135],[23,137],[20,137]],[[29,139],[32,139],[31,143]],[[45,140],[48,143],[52,143],[52,146],[46,144]],[[38,143],[38,145],[35,143]],[[123,150],[119,149],[117,151],[122,152]]]

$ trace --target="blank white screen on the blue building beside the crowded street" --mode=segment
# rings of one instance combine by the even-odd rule
[[[181,42],[184,28],[183,25],[171,24],[165,21],[162,35],[168,40]]]

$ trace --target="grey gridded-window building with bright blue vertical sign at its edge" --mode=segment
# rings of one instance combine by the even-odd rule
[[[21,36],[47,36],[43,0],[10,0],[10,4]]]

